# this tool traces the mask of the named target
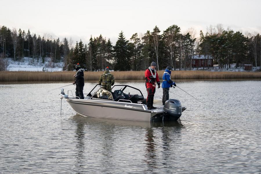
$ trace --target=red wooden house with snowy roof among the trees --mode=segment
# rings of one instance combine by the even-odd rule
[[[192,57],[192,65],[193,68],[197,67],[213,67],[213,57],[211,55],[194,55]]]

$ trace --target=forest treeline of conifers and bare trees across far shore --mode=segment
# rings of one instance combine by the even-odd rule
[[[64,62],[64,70],[73,70],[79,63],[86,71],[110,69],[145,70],[151,61],[157,62],[157,69],[172,66],[174,70],[191,70],[195,55],[213,57],[214,64],[219,68],[236,67],[242,64],[260,66],[261,36],[259,33],[245,33],[224,30],[222,24],[210,26],[207,32],[200,30],[200,37],[195,37],[196,31],[190,28],[182,33],[180,27],[172,25],[164,31],[155,26],[152,31],[144,34],[133,34],[126,39],[124,33],[119,33],[115,45],[99,35],[91,36],[88,44],[81,40],[76,43],[70,38],[53,38],[50,35],[40,36],[19,29],[2,26],[0,29],[1,64],[6,57],[14,61],[23,61],[23,57],[31,57],[34,61],[45,62],[50,57],[49,66]],[[213,67],[206,67],[213,68]],[[1,69],[1,68],[0,68]]]

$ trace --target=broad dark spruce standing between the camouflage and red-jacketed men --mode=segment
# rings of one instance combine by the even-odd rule
[[[131,69],[130,67],[130,50],[128,46],[128,42],[123,32],[121,31],[119,33],[118,40],[116,42],[116,45],[114,46],[114,60],[115,60],[115,66],[114,70],[116,71],[128,71]]]

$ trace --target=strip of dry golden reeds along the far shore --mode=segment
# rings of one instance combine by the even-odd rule
[[[162,78],[164,71],[158,71]],[[75,71],[28,72],[1,71],[0,81],[74,81]],[[84,72],[85,80],[98,80],[103,72]],[[115,80],[144,79],[144,71],[111,72]],[[210,72],[210,71],[172,71],[172,79],[261,79],[261,72]]]

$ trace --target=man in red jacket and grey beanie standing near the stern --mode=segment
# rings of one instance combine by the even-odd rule
[[[153,61],[151,62],[151,66],[145,71],[145,82],[146,82],[145,86],[148,92],[148,97],[147,97],[148,109],[156,109],[155,107],[153,107],[153,99],[156,91],[156,83],[158,85],[158,88],[160,88],[160,79],[155,69],[156,66],[157,64]]]

